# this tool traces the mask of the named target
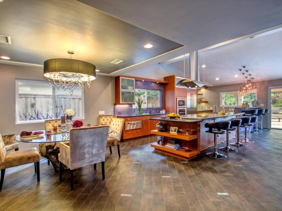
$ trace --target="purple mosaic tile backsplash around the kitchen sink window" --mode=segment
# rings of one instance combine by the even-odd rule
[[[136,89],[152,89],[160,90],[160,102],[161,108],[142,108],[142,113],[160,113],[160,110],[164,109],[164,85],[148,81],[137,81],[135,80]],[[133,105],[114,105],[114,114],[115,115],[134,115],[136,114],[136,109],[133,108]]]

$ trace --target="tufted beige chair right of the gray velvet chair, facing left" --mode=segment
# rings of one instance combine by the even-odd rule
[[[119,144],[120,144],[121,133],[123,131],[123,123],[124,123],[124,118],[112,118],[110,128],[111,130],[113,130],[113,132],[109,134],[107,140],[107,147],[110,147],[111,154],[112,154],[112,146],[118,145],[119,158],[120,158]]]

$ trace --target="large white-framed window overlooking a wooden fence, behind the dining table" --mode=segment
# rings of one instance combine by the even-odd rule
[[[59,90],[45,81],[16,79],[16,124],[58,119],[73,109],[74,119],[84,118],[83,91]]]

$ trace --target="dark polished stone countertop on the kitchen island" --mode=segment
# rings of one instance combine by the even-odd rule
[[[198,122],[205,119],[216,119],[216,118],[224,118],[230,116],[239,116],[243,115],[244,113],[226,113],[226,114],[219,114],[219,113],[194,113],[183,115],[180,118],[169,118],[169,117],[161,117],[161,118],[150,118],[152,120],[163,120],[163,121],[173,121],[173,122]],[[196,120],[196,121],[195,121]]]

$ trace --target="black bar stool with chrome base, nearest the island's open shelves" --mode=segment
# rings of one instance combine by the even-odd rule
[[[229,129],[230,124],[231,124],[230,121],[209,122],[205,124],[205,127],[209,128],[209,130],[207,130],[206,133],[214,134],[214,152],[206,153],[206,156],[215,159],[227,158],[226,155],[217,152],[217,135],[224,134],[225,131],[222,130]],[[217,130],[213,130],[213,129],[217,129]]]

